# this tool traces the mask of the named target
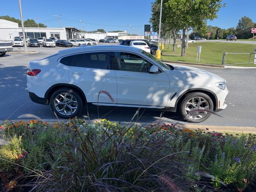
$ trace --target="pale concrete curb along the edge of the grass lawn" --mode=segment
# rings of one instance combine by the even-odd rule
[[[234,68],[234,69],[256,69],[255,67],[240,67],[240,66],[229,66],[229,65],[215,65],[215,64],[202,64],[202,63],[189,63],[189,62],[178,62],[178,61],[168,61],[168,60],[161,60],[165,63],[170,64],[178,64],[178,65],[185,65],[185,66],[193,66],[193,67],[206,67],[206,68]]]

